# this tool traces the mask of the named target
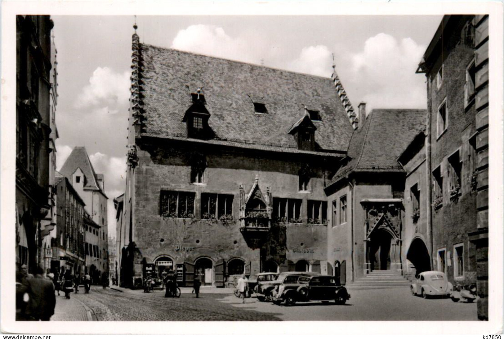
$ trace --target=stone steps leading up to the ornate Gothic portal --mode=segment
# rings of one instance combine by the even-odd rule
[[[355,282],[346,285],[349,290],[409,288],[410,282],[393,270],[372,271]]]

